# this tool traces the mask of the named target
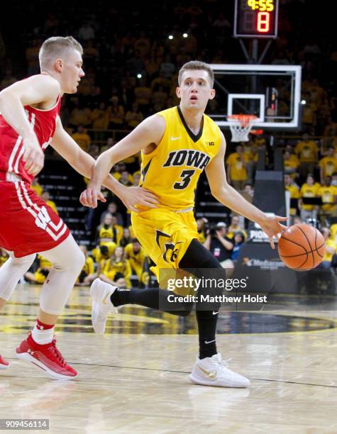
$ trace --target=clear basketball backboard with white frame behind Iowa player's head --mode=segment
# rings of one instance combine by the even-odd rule
[[[253,129],[296,130],[301,120],[301,67],[296,65],[210,65],[216,98],[209,116],[220,127],[231,114],[257,116]]]

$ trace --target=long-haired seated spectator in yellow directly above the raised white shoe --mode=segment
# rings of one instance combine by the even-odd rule
[[[116,247],[111,259],[104,263],[99,274],[99,279],[103,282],[115,286],[124,286],[131,289],[131,265],[125,257],[123,247]]]

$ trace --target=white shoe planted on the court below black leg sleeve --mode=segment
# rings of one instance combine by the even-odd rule
[[[248,387],[250,385],[248,378],[228,369],[219,352],[201,360],[197,357],[189,379],[194,384],[204,386]]]

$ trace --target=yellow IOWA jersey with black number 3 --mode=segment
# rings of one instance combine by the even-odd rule
[[[193,208],[199,176],[221,146],[219,127],[204,115],[195,135],[179,106],[157,114],[165,118],[165,133],[153,152],[142,151],[140,186],[158,196],[160,208]]]

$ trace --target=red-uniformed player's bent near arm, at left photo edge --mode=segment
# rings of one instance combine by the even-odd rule
[[[34,75],[16,82],[0,92],[0,113],[4,120],[23,138],[25,169],[34,176],[44,164],[44,154],[23,106],[55,104],[60,85],[48,75]]]

